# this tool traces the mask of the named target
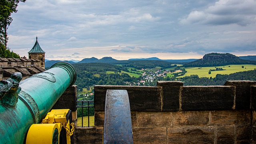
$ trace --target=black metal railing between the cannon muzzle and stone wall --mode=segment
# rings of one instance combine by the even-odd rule
[[[87,104],[84,104],[87,103]],[[92,104],[93,103],[93,104]],[[88,116],[88,127],[90,127],[90,108],[94,108],[93,100],[77,100],[76,108],[82,108],[82,127],[84,126],[84,108],[87,108],[87,116]]]

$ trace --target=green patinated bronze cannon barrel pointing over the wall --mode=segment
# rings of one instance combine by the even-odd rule
[[[16,105],[5,105],[6,96],[0,98],[0,143],[24,143],[30,126],[40,123],[66,88],[72,86],[75,81],[74,67],[66,62],[58,62],[49,70],[20,82],[21,90],[17,92]],[[8,85],[8,82],[5,84]],[[14,86],[11,90],[13,88]]]

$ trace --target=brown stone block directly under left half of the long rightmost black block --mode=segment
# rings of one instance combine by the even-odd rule
[[[209,123],[209,111],[174,112],[173,126],[207,125]]]

